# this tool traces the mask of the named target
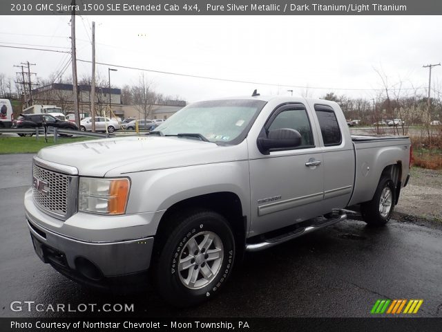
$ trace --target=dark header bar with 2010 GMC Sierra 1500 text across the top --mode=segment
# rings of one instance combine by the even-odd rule
[[[73,5],[75,3],[75,6]],[[1,15],[442,15],[434,0],[2,0]]]

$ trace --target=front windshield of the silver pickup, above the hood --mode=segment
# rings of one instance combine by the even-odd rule
[[[198,133],[210,142],[242,140],[264,105],[262,100],[196,102],[175,113],[155,131],[161,131],[164,136]]]

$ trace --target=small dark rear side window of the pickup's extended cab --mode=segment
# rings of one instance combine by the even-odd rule
[[[315,105],[316,116],[318,116],[320,132],[323,134],[323,141],[326,147],[340,145],[342,136],[340,135],[338,120],[332,107],[327,105]]]

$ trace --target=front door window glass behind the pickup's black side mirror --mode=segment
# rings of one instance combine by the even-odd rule
[[[284,128],[295,129],[301,134],[301,145],[298,148],[314,146],[309,117],[305,109],[282,111],[276,116],[273,122],[271,122],[269,131]]]

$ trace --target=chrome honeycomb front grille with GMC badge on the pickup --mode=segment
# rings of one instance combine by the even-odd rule
[[[66,216],[68,212],[68,187],[71,176],[49,171],[34,165],[32,169],[34,200],[44,210]],[[44,183],[43,185],[38,185]]]

